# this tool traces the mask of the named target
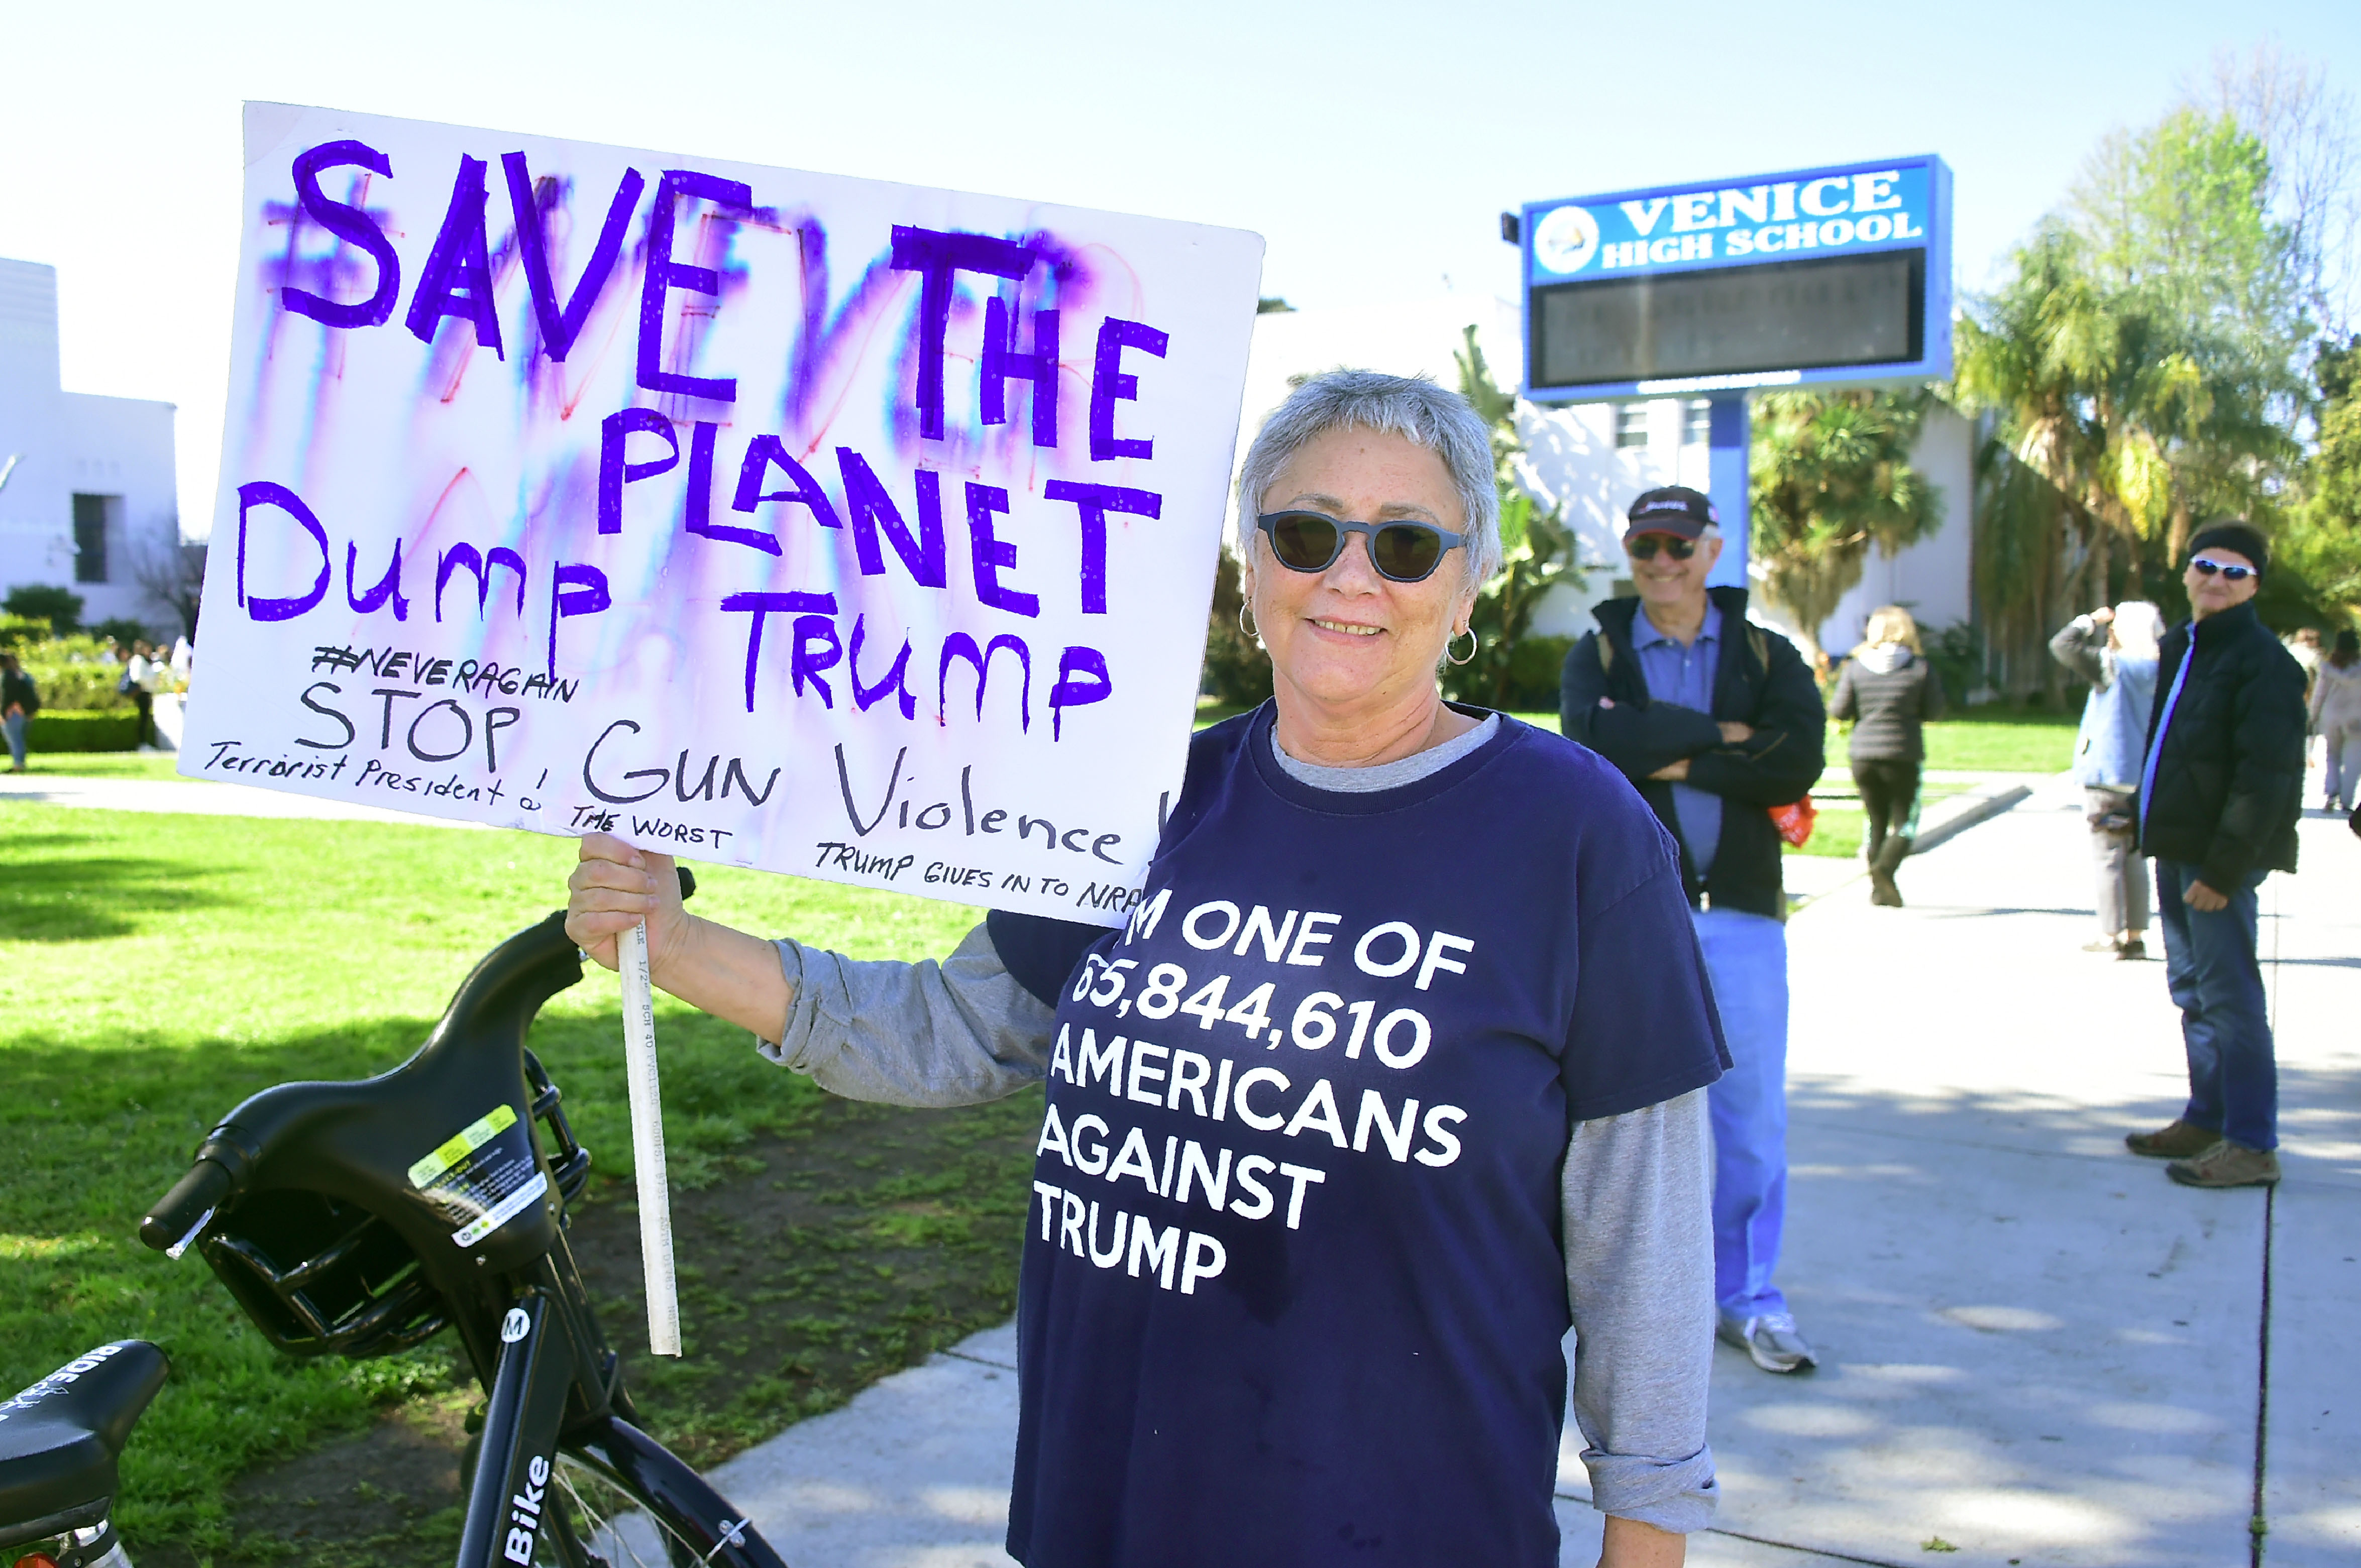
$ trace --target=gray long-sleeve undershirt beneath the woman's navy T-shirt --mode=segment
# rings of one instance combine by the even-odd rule
[[[1381,767],[1313,767],[1275,753],[1320,789],[1393,789],[1473,751],[1497,723]],[[940,963],[855,961],[789,937],[777,949],[793,1001],[779,1041],[758,1048],[831,1093],[975,1105],[1048,1070],[1055,1011],[1011,978],[985,926]],[[1705,1091],[1577,1122],[1558,1190],[1572,1407],[1591,1502],[1660,1530],[1702,1530],[1719,1497],[1705,1443],[1714,1353]]]

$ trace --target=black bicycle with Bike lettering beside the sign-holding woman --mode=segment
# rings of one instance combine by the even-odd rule
[[[682,895],[692,886],[682,874]],[[404,1065],[279,1084],[231,1110],[139,1240],[175,1259],[194,1244],[288,1355],[390,1355],[458,1329],[486,1393],[463,1459],[458,1568],[786,1568],[640,1431],[567,1247],[590,1152],[524,1032],[581,975],[562,912],[519,930]],[[92,1355],[90,1374],[47,1398],[47,1426],[0,1419],[0,1544],[57,1537],[71,1554],[50,1551],[59,1568],[118,1551],[94,1530],[123,1438],[163,1381],[153,1346]],[[59,1459],[59,1438],[80,1457]],[[35,1504],[42,1514],[19,1516]]]

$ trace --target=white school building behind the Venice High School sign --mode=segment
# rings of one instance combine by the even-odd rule
[[[1445,387],[1457,387],[1454,352],[1469,326],[1476,326],[1476,342],[1490,361],[1492,383],[1516,387],[1525,364],[1518,307],[1497,295],[1443,293],[1391,305],[1256,316],[1240,460],[1263,416],[1287,397],[1289,378],[1360,368],[1426,373]],[[1591,605],[1629,590],[1622,524],[1631,498],[1660,484],[1707,489],[1705,401],[1657,397],[1570,409],[1520,404],[1518,430],[1528,446],[1520,463],[1525,489],[1565,508],[1584,567],[1582,588],[1554,588],[1535,614],[1532,631],[1580,638],[1591,628]],[[1943,527],[1896,555],[1870,553],[1860,583],[1820,623],[1820,647],[1830,649],[1830,656],[1860,640],[1868,614],[1879,605],[1908,607],[1927,631],[1969,621],[1974,614],[1969,569],[1974,427],[1950,409],[1934,409],[1912,460],[1943,491]],[[1790,631],[1780,623],[1780,612],[1759,597],[1750,605],[1750,614],[1766,626]]]

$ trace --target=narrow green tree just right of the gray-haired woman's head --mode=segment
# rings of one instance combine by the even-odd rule
[[[1483,586],[1476,609],[1469,612],[1476,652],[1466,664],[1445,666],[1443,690],[1457,701],[1487,708],[1506,708],[1511,699],[1549,706],[1544,694],[1556,694],[1565,642],[1532,638],[1532,612],[1556,583],[1582,583],[1575,531],[1561,508],[1544,510],[1518,482],[1516,460],[1525,451],[1525,439],[1516,432],[1516,394],[1495,385],[1473,326],[1466,328],[1464,342],[1466,347],[1452,357],[1459,361],[1459,394],[1492,427],[1502,569]]]

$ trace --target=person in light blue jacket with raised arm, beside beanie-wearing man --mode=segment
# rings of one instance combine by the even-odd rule
[[[2156,640],[2165,612],[2146,600],[2104,605],[2049,638],[2049,654],[2089,682],[2073,777],[2082,786],[2089,852],[2099,871],[2099,940],[2082,952],[2149,956],[2149,862],[2132,845],[2139,758],[2156,706]]]

